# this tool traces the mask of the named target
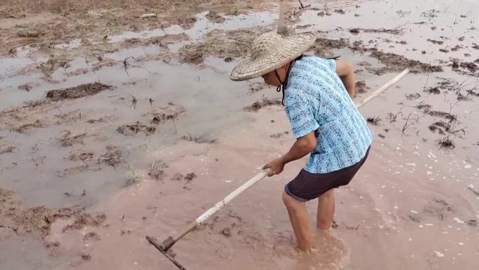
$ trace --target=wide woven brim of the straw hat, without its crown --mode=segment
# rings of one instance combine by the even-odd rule
[[[314,41],[316,41],[316,36],[309,32],[286,36],[279,51],[256,59],[250,57],[243,60],[232,70],[230,79],[245,81],[272,72],[302,55],[311,48]]]

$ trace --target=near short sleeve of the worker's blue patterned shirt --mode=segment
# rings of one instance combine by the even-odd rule
[[[319,128],[319,124],[314,118],[314,108],[303,93],[296,92],[289,95],[285,98],[284,105],[296,139]]]

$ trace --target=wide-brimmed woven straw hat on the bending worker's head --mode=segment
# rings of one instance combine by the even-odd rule
[[[310,32],[281,36],[269,32],[258,36],[251,44],[251,56],[238,64],[230,79],[244,81],[267,74],[296,59],[316,41]]]

